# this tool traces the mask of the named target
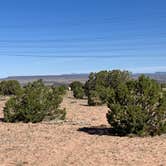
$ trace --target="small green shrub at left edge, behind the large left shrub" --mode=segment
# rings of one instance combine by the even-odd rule
[[[22,88],[16,80],[2,81],[0,82],[0,93],[4,96],[20,95]]]

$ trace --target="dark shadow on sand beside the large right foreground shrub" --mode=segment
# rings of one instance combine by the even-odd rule
[[[112,128],[106,126],[82,127],[78,131],[85,132],[90,135],[108,135],[108,136],[124,136],[123,134],[115,133]]]

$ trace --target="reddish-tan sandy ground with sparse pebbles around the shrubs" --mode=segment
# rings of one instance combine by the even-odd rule
[[[0,102],[3,117],[4,101]],[[107,107],[89,107],[68,96],[60,124],[0,122],[0,166],[165,166],[166,136],[129,138],[108,134]]]

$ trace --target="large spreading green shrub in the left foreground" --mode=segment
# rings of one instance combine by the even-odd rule
[[[4,108],[5,122],[40,122],[64,119],[65,110],[59,109],[62,97],[41,80],[29,83],[21,96],[9,99]]]

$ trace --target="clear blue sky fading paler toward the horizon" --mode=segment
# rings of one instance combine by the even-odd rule
[[[165,0],[0,0],[0,77],[166,71]]]

